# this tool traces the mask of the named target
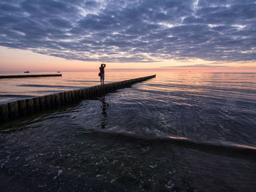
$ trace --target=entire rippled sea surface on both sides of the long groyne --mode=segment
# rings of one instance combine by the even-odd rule
[[[256,74],[155,73],[130,88],[1,124],[1,189],[255,191]],[[106,83],[150,74],[107,72]],[[0,80],[1,103],[98,79],[81,72]]]

